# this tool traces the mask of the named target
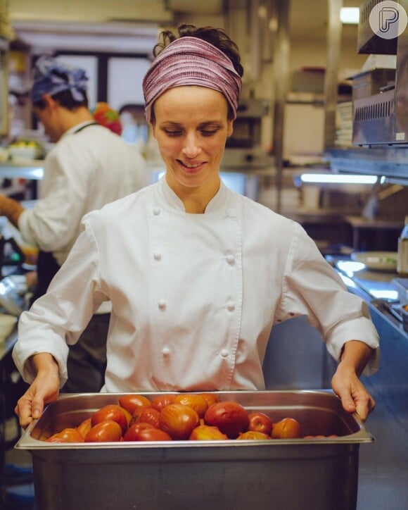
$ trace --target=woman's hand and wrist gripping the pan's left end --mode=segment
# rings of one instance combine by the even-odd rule
[[[23,428],[42,415],[44,406],[58,398],[60,389],[58,364],[51,354],[35,354],[31,361],[37,375],[14,410]]]

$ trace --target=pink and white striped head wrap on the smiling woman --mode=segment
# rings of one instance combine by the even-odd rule
[[[185,85],[208,87],[224,94],[236,118],[241,76],[226,54],[198,37],[175,39],[153,61],[143,80],[146,119],[152,123],[153,103],[166,90]]]

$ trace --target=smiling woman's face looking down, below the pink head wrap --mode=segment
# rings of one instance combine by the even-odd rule
[[[174,192],[219,187],[219,162],[232,134],[227,99],[205,87],[174,87],[154,105],[153,135]]]

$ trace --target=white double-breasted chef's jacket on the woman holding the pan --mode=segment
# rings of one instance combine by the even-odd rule
[[[85,216],[49,292],[20,318],[23,378],[33,378],[29,356],[50,352],[63,385],[65,339],[76,342],[108,299],[108,392],[264,389],[272,325],[294,316],[336,359],[348,340],[378,347],[366,304],[301,226],[223,184],[203,214],[185,213],[162,179]]]

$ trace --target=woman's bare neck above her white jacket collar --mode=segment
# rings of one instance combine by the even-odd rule
[[[190,214],[203,214],[209,202],[217,194],[220,185],[219,175],[200,187],[193,188],[180,186],[170,174],[166,174],[166,182],[183,202],[186,213]]]

